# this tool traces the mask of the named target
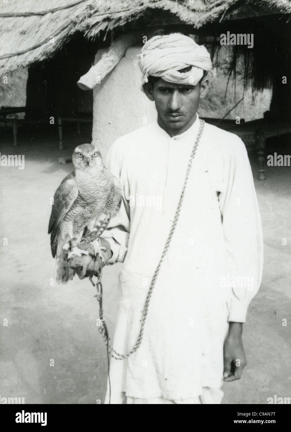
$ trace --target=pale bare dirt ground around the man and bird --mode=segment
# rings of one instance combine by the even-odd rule
[[[50,198],[72,170],[71,164],[60,165],[58,157],[70,157],[83,142],[84,137],[74,138],[59,151],[57,134],[32,135],[19,137],[19,146],[12,147],[9,132],[0,146],[1,154],[25,155],[23,170],[0,167],[1,320],[8,320],[7,326],[1,325],[1,397],[25,397],[25,403],[104,401],[107,360],[96,327],[94,288],[77,278],[66,286],[50,286]],[[277,148],[270,153],[274,151]],[[290,154],[290,149],[281,154]],[[248,365],[240,381],[223,386],[226,404],[265,404],[274,395],[291,396],[291,167],[267,167],[266,180],[259,181],[256,159],[250,158],[263,220],[265,264],[261,289],[244,325]],[[119,264],[110,266],[103,279],[111,336],[119,271]],[[287,326],[282,325],[284,319]]]

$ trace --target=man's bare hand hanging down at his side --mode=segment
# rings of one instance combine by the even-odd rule
[[[229,333],[223,346],[223,381],[235,381],[241,378],[247,365],[245,350],[241,340],[242,323],[229,323]]]

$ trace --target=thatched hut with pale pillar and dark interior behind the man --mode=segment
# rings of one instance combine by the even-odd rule
[[[272,87],[269,117],[288,120],[290,13],[288,0],[4,0],[0,76],[29,67],[28,117],[36,111],[44,115],[90,111],[93,103],[93,140],[106,152],[116,137],[154,115],[152,104],[139,91],[135,64],[145,37],[157,31],[183,32],[207,42],[214,54],[222,33],[250,33],[253,48],[230,47],[231,70],[235,73],[242,56],[245,86]],[[87,85],[93,73],[87,72],[98,62],[99,75]],[[283,76],[287,83],[282,83]]]

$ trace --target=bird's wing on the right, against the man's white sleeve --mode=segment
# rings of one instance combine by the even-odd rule
[[[102,232],[106,229],[111,217],[114,217],[119,212],[122,198],[122,188],[118,179],[113,175],[113,184],[108,194],[105,208],[98,215],[95,221],[95,227],[97,228],[96,238],[100,237]]]

